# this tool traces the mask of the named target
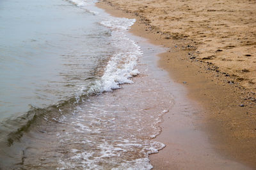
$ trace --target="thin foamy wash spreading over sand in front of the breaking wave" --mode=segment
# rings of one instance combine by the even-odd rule
[[[173,97],[168,75],[150,63],[156,63],[151,59],[160,49],[148,46],[143,46],[147,53],[140,58],[136,83],[91,96],[73,114],[61,108],[63,115],[45,116],[8,150],[13,157],[6,159],[8,164],[24,169],[151,169],[148,154],[164,147],[152,138],[161,131],[158,124]]]

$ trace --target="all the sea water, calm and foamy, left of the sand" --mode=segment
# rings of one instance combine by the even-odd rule
[[[145,90],[157,81],[143,78],[137,91],[112,92],[140,74],[143,52],[127,36],[135,19],[94,4],[0,2],[0,168],[152,168],[148,154],[164,146],[151,141],[159,101],[172,95]],[[134,98],[143,90],[152,99]]]

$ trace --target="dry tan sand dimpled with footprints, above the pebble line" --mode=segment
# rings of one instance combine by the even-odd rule
[[[188,59],[210,62],[216,71],[256,90],[256,1],[108,0],[143,17],[166,39],[186,41]],[[183,42],[184,45],[184,42]],[[184,46],[183,46],[184,48]]]

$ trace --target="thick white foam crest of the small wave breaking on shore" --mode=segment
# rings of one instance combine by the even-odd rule
[[[111,29],[111,37],[116,53],[109,60],[102,78],[95,83],[90,92],[104,92],[119,89],[120,84],[132,83],[132,76],[140,72],[136,69],[138,58],[143,54],[132,39],[127,38],[124,32],[134,24],[135,19],[112,18],[100,22]]]

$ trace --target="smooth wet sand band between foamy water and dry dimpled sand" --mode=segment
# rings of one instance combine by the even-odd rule
[[[216,71],[210,62],[196,62],[195,48],[188,46],[186,39],[175,40],[152,29],[145,17],[127,10],[129,6],[124,8],[122,1],[121,5],[108,2],[98,6],[118,17],[136,17],[133,34],[168,48],[159,55],[158,64],[168,71],[173,83],[179,84],[175,105],[164,115],[163,131],[156,138],[166,143],[166,148],[150,155],[153,166],[156,169],[244,169],[238,163],[241,162],[255,168],[256,107],[252,89],[244,89],[229,74]]]

